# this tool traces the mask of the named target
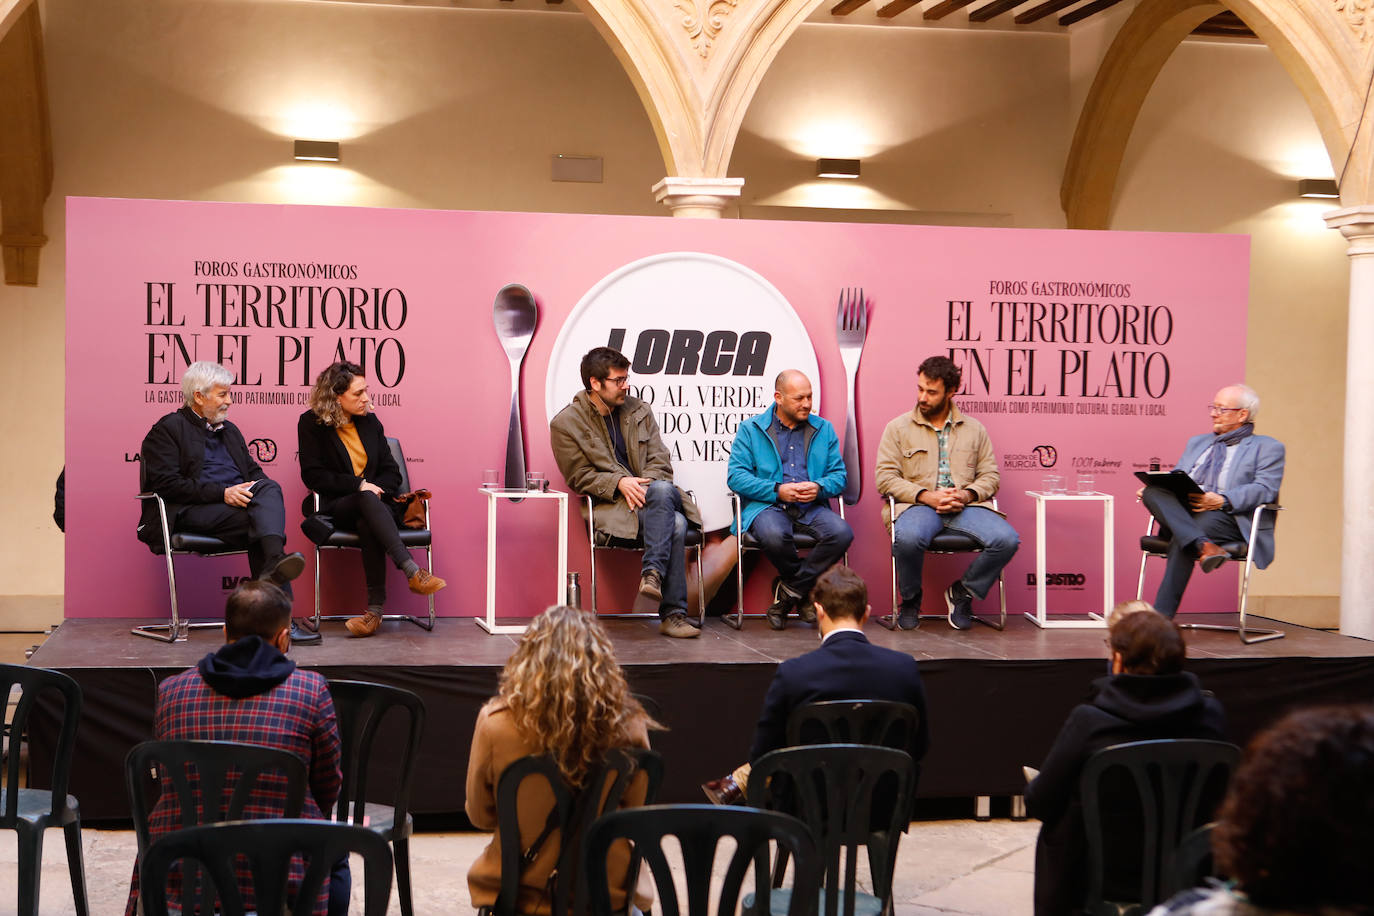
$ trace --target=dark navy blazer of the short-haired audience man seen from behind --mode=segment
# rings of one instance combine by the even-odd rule
[[[911,747],[919,761],[930,744],[926,688],[916,659],[868,641],[860,630],[840,630],[820,648],[778,666],[754,729],[750,762],[787,746],[787,717],[798,706],[819,700],[874,699],[911,703],[921,722]]]

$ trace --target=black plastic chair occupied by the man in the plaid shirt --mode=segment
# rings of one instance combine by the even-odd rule
[[[235,779],[229,779],[229,770]],[[124,758],[129,814],[139,846],[139,869],[153,845],[151,814],[164,779],[177,810],[177,829],[243,820],[257,790],[280,795],[273,817],[300,817],[305,806],[305,762],[276,747],[238,742],[143,742]],[[284,786],[283,786],[284,783]],[[139,897],[143,897],[142,887]]]

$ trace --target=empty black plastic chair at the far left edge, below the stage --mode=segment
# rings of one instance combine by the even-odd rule
[[[81,687],[59,672],[26,665],[0,665],[0,696],[8,702],[11,692],[21,689],[10,725],[5,726],[10,746],[4,761],[4,795],[0,803],[0,828],[12,829],[16,836],[19,858],[19,908],[21,916],[37,916],[38,889],[43,873],[43,836],[49,827],[62,828],[62,839],[67,847],[67,872],[71,878],[71,902],[74,912],[85,916],[85,868],[81,860],[81,808],[77,799],[67,795],[67,781],[71,776],[71,750],[77,740],[77,722],[81,720]],[[29,733],[29,717],[40,696],[52,691],[62,696],[62,722],[58,729],[58,747],[52,754],[52,772],[48,773],[51,788],[23,788],[21,784],[21,762],[23,754],[19,744]],[[23,776],[30,779],[37,775]]]

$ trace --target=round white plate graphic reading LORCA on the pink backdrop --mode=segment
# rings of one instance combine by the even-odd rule
[[[629,360],[629,393],[654,408],[673,479],[695,493],[706,530],[730,525],[730,446],[739,423],[772,404],[778,372],[805,372],[812,409],[822,412],[816,350],[791,304],[754,271],[714,254],[657,254],[587,291],[554,342],[550,420],[583,390],[583,354],[598,346]]]

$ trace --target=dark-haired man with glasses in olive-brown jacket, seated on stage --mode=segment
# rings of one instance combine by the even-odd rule
[[[643,541],[639,593],[658,602],[658,632],[699,636],[687,619],[687,526],[701,527],[697,504],[673,486],[673,460],[654,411],[631,397],[629,360],[599,346],[583,357],[584,390],[548,424],[554,460],[567,485],[592,497],[596,536]]]

